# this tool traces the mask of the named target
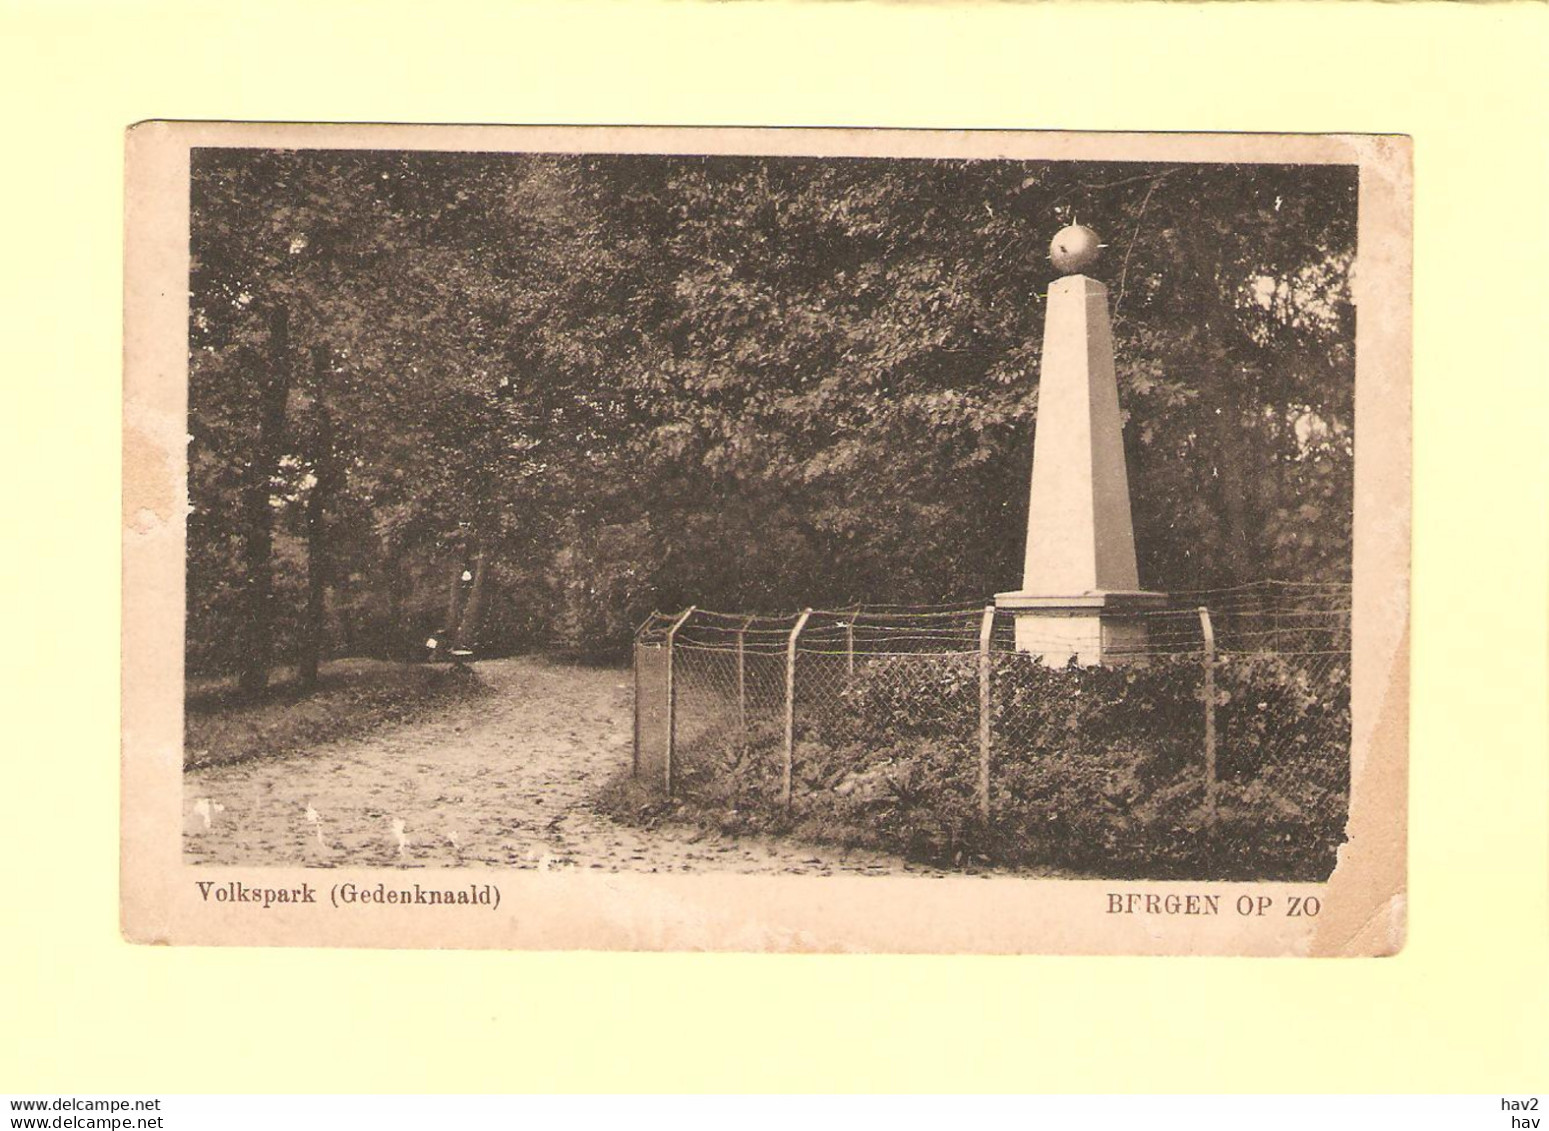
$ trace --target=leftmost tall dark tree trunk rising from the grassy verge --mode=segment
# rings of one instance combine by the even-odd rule
[[[243,660],[239,688],[259,696],[270,683],[274,651],[274,511],[271,479],[279,468],[285,434],[285,401],[290,397],[290,311],[270,315],[268,372],[259,376],[259,437],[242,490],[243,510]]]

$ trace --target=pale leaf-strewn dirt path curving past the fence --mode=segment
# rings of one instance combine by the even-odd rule
[[[590,798],[630,761],[626,672],[486,660],[489,699],[277,759],[184,775],[189,861],[934,874],[878,852],[617,824]]]

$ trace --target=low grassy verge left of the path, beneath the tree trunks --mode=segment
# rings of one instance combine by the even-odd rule
[[[280,671],[259,700],[243,699],[235,679],[192,679],[184,693],[183,765],[304,753],[488,694],[474,672],[449,665],[364,658],[322,665],[311,693],[301,689],[294,669]]]

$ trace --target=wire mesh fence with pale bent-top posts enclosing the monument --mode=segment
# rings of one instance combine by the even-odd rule
[[[962,860],[1310,875],[1349,793],[1346,586],[1104,618],[984,606],[654,614],[635,772],[669,795]],[[1094,621],[1089,621],[1089,626]]]

